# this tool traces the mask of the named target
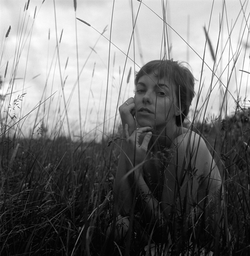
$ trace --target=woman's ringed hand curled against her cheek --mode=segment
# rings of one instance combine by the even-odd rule
[[[123,125],[123,136],[125,124],[128,124],[128,134],[129,136],[133,133],[133,131],[136,129],[136,122],[135,122],[135,103],[134,98],[131,97],[127,101],[125,101],[120,107],[119,112],[122,120]]]

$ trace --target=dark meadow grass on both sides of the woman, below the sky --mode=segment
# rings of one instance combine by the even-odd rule
[[[250,120],[245,113],[194,125],[207,139],[223,175],[222,215],[228,232],[220,236],[219,255],[250,253]],[[2,137],[1,255],[125,255],[124,244],[106,235],[120,142],[70,146],[63,137]],[[137,221],[133,231],[127,246],[130,255],[138,255],[145,241]],[[182,239],[186,243],[188,238]]]

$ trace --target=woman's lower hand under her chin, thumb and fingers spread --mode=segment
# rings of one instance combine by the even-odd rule
[[[128,165],[136,166],[143,162],[148,151],[148,143],[152,136],[151,127],[141,127],[134,130],[131,136],[129,135],[129,126],[125,124],[124,135],[126,139],[125,154],[127,155]],[[139,144],[140,136],[144,136],[143,142]]]

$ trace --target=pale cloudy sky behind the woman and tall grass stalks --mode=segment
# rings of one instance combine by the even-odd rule
[[[22,79],[17,79],[13,83],[13,91],[18,92],[13,93],[10,103],[13,105],[14,99],[18,94],[22,93],[23,89],[23,92],[27,93],[23,97],[22,112],[18,112],[17,108],[15,108],[15,110],[12,110],[11,115],[15,113],[17,118],[23,117],[36,107],[40,101],[49,97],[51,93],[56,92],[52,97],[50,105],[49,100],[41,105],[38,116],[40,118],[45,117],[45,120],[48,117],[48,130],[52,130],[53,133],[58,130],[58,128],[55,129],[55,123],[62,121],[65,132],[68,134],[66,119],[58,114],[59,106],[61,107],[61,113],[64,109],[61,77],[63,81],[67,77],[64,85],[64,97],[65,101],[69,99],[67,106],[70,134],[72,136],[79,135],[80,118],[75,27],[77,25],[79,71],[83,69],[79,77],[82,127],[84,127],[85,123],[85,133],[91,129],[95,132],[97,131],[97,124],[103,122],[108,79],[108,59],[110,56],[106,120],[108,120],[109,117],[111,119],[107,121],[105,128],[111,128],[114,123],[114,115],[118,104],[118,91],[121,86],[123,70],[124,79],[122,83],[121,99],[118,105],[124,102],[128,97],[133,96],[134,62],[136,63],[135,70],[138,71],[138,66],[142,66],[150,60],[160,59],[163,56],[161,54],[161,50],[164,50],[164,47],[162,47],[164,29],[161,19],[163,17],[162,1],[143,0],[140,5],[140,2],[133,0],[132,3],[134,20],[137,12],[138,18],[135,27],[135,48],[133,48],[132,40],[128,56],[134,61],[128,59],[126,63],[126,55],[121,51],[124,53],[128,52],[133,31],[130,0],[114,1],[111,42],[116,45],[117,48],[111,45],[110,52],[108,40],[100,37],[100,34],[98,34],[96,30],[101,33],[106,25],[108,25],[104,36],[109,38],[113,0],[77,0],[76,17],[85,20],[91,24],[92,27],[78,20],[75,23],[73,0],[55,0],[56,23],[53,0],[45,0],[43,4],[42,0],[31,0],[27,12],[26,10],[24,11],[25,1],[1,0],[0,54],[2,55],[2,60],[0,75],[2,77],[4,76],[8,61],[8,70],[2,93],[8,91],[9,84],[12,85],[10,81],[11,77],[13,77],[13,63],[15,63],[17,56],[18,65],[15,76],[16,78]],[[166,4],[166,1],[164,1],[164,3]],[[169,47],[171,45],[170,58],[179,61],[187,61],[190,64],[192,72],[198,80],[196,82],[196,91],[198,91],[199,88],[202,72],[201,80],[203,87],[198,104],[199,108],[202,106],[202,102],[204,102],[211,84],[212,73],[209,71],[209,68],[213,69],[214,65],[207,44],[204,55],[206,64],[202,71],[202,59],[206,42],[204,26],[206,26],[207,29],[209,27],[208,34],[214,51],[216,51],[219,38],[215,65],[217,67],[216,75],[220,77],[222,70],[226,69],[221,76],[222,83],[225,86],[227,86],[227,80],[228,76],[231,74],[233,62],[240,51],[235,71],[232,73],[230,82],[228,83],[228,91],[232,93],[233,97],[237,98],[236,92],[240,88],[240,96],[242,98],[247,96],[247,100],[249,99],[248,92],[246,92],[247,73],[239,71],[245,70],[249,72],[250,51],[247,44],[247,31],[249,31],[249,27],[245,29],[246,24],[249,24],[249,21],[247,22],[250,13],[249,3],[247,1],[228,0],[225,4],[226,8],[224,8],[222,18],[223,1],[220,0],[215,0],[214,3],[212,0],[167,1],[167,23],[179,34],[178,35],[167,26]],[[33,19],[36,6],[36,17]],[[241,8],[241,6],[243,6],[243,8]],[[210,15],[211,21],[209,26]],[[221,32],[220,19],[222,19]],[[58,41],[63,29],[59,46],[59,58],[57,58],[55,24],[57,25]],[[11,31],[4,44],[5,34],[10,25]],[[232,32],[230,33],[229,31],[231,30]],[[49,31],[50,40],[48,40]],[[230,40],[228,40],[229,34]],[[181,37],[189,43],[193,50],[187,47],[187,43]],[[94,47],[93,52],[91,52],[90,47]],[[223,51],[224,48],[225,50]],[[90,57],[88,58],[89,55]],[[67,58],[68,64],[65,69]],[[85,63],[86,65],[84,65]],[[94,65],[95,70],[93,74]],[[127,85],[127,76],[130,67],[132,67],[132,75]],[[119,70],[121,72],[120,74]],[[32,79],[34,76],[37,77]],[[217,82],[216,77],[213,79],[212,85],[215,87],[208,102],[207,113],[210,115],[215,113],[217,115],[221,107],[222,97],[220,83]],[[46,95],[43,94],[44,90],[46,91]],[[61,103],[59,104],[58,102]],[[192,103],[193,109],[195,105],[196,102],[194,100]],[[235,108],[234,101],[230,95],[228,96],[228,106],[230,107],[230,112]],[[23,120],[21,121],[20,124],[24,128],[23,133],[28,134],[32,130],[34,123],[37,127],[41,125],[41,121],[34,121],[36,115],[37,109],[25,119],[24,123]],[[87,119],[85,118],[86,116]],[[57,117],[55,120],[59,121],[55,121],[54,117]],[[119,117],[116,123],[118,120]],[[45,125],[45,123],[43,125]],[[103,126],[100,125],[98,130],[102,129]],[[99,132],[97,131],[97,133]]]

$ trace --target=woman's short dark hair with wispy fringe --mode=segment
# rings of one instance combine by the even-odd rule
[[[157,73],[156,73],[157,72]],[[159,79],[168,77],[176,85],[179,108],[183,109],[180,116],[176,116],[176,125],[180,126],[189,112],[194,97],[194,81],[191,71],[183,65],[183,62],[171,60],[152,60],[145,64],[135,76],[135,85],[141,76],[155,74]],[[180,92],[180,94],[179,94]],[[185,108],[184,108],[185,107]]]

